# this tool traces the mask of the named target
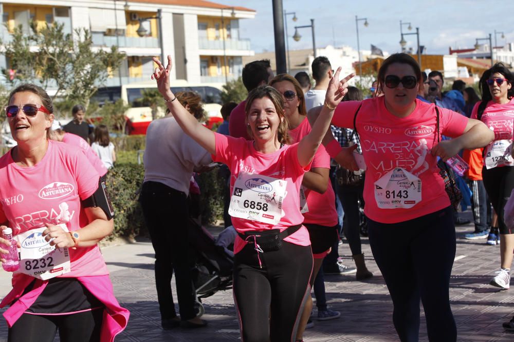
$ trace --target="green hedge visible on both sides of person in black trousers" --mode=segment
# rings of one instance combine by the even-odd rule
[[[141,206],[139,189],[144,178],[143,165],[116,164],[107,174],[106,184],[115,211],[115,236],[148,236]],[[223,219],[223,181],[217,169],[198,175],[200,212],[204,224]]]

